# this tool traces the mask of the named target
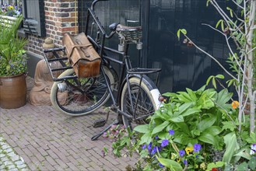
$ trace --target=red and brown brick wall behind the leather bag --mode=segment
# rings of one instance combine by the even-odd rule
[[[51,37],[54,44],[61,46],[64,33],[78,33],[77,1],[44,0],[46,37]],[[26,50],[42,54],[41,45],[46,37],[29,36]]]

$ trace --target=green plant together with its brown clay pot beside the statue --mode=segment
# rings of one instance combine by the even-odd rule
[[[23,16],[0,24],[0,106],[18,108],[26,104],[26,54],[24,38],[17,35]]]

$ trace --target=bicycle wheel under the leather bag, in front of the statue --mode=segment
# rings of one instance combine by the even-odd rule
[[[61,113],[71,116],[82,116],[92,113],[109,99],[110,88],[114,87],[114,77],[110,70],[103,66],[107,77],[107,82],[103,77],[103,72],[96,78],[86,79],[65,79],[65,81],[54,82],[51,88],[51,103]],[[63,72],[58,79],[75,75],[73,69]]]

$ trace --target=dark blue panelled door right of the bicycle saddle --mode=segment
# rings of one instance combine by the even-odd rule
[[[212,6],[206,7],[205,0],[150,0],[148,3],[148,50],[149,67],[160,66],[160,89],[181,91],[186,87],[198,89],[209,75],[223,74],[222,69],[195,47],[183,44],[184,37],[177,40],[177,30],[184,28],[188,36],[209,54],[226,65],[228,56],[223,37],[203,26],[216,26],[219,15]],[[224,8],[226,1],[219,1]],[[229,68],[229,66],[225,66]]]

